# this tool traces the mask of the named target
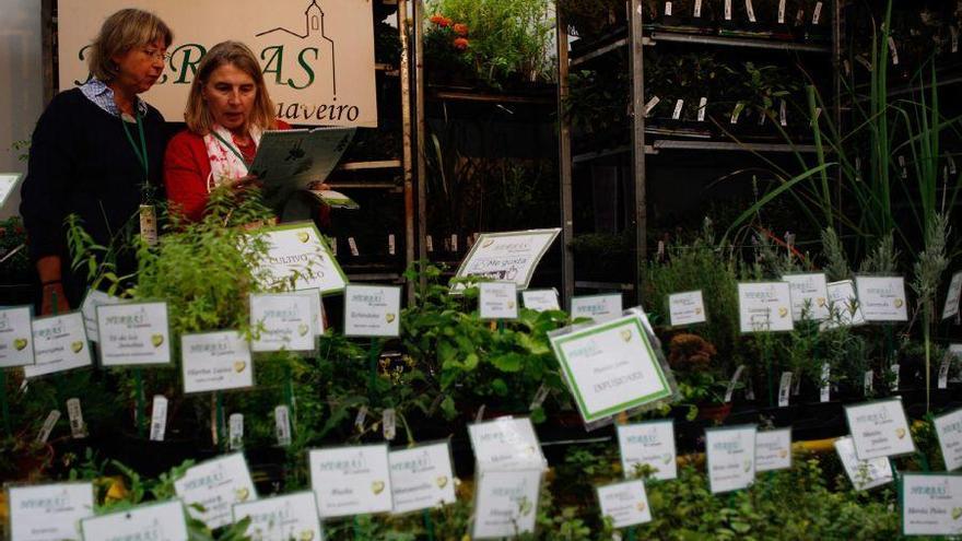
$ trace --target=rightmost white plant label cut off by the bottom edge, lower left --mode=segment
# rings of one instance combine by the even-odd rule
[[[234,522],[250,518],[247,537],[259,541],[321,541],[324,530],[310,491],[234,504]]]

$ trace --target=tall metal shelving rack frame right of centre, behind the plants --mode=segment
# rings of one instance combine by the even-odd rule
[[[627,145],[613,149],[599,149],[598,151],[587,152],[572,156],[571,126],[565,119],[562,109],[565,98],[568,96],[567,77],[572,68],[576,68],[595,58],[619,50],[623,47],[629,48],[629,63],[631,66],[631,110],[644,110],[644,47],[657,46],[660,42],[708,45],[717,47],[732,48],[752,48],[762,50],[784,50],[797,51],[805,54],[829,55],[834,67],[833,81],[833,115],[835,119],[841,118],[841,106],[838,95],[841,93],[841,78],[838,77],[838,66],[841,64],[841,16],[844,0],[832,0],[833,22],[832,22],[832,44],[817,45],[802,44],[793,42],[778,42],[774,39],[753,39],[738,38],[727,36],[704,36],[691,34],[673,34],[664,31],[652,31],[648,35],[643,34],[644,13],[643,0],[627,0],[626,13],[629,14],[627,33],[623,37],[613,40],[605,40],[594,50],[588,50],[576,58],[570,58],[567,50],[568,35],[563,21],[563,14],[558,13],[558,116],[559,116],[559,186],[561,189],[561,214],[562,214],[562,296],[564,306],[568,306],[571,297],[574,295],[575,286],[597,290],[620,290],[641,292],[642,270],[647,259],[647,209],[646,209],[646,169],[645,155],[659,154],[662,151],[723,151],[723,152],[751,152],[751,153],[786,153],[802,152],[811,153],[816,148],[810,144],[779,144],[779,143],[741,143],[735,141],[718,140],[670,140],[659,139],[658,137],[646,138],[645,117],[644,115],[632,114],[631,142]],[[617,34],[615,34],[617,35]],[[610,36],[610,35],[609,35]],[[609,37],[610,39],[610,37]],[[636,269],[634,273],[634,283],[609,283],[609,282],[580,282],[575,281],[574,275],[574,255],[571,249],[571,243],[574,239],[573,209],[572,209],[572,165],[574,163],[586,163],[600,157],[612,156],[617,154],[631,153],[631,170],[634,179],[631,183],[632,193],[626,197],[632,202],[632,213],[627,216],[627,226],[634,231],[634,249]]]

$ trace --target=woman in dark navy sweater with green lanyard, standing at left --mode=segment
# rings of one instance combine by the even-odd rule
[[[164,117],[139,94],[161,78],[173,39],[153,13],[114,13],[90,47],[90,80],[55,96],[37,121],[20,212],[43,287],[40,314],[52,311],[55,298],[59,311],[77,307],[85,290],[69,268],[70,214],[96,244],[120,245],[118,274],[136,269],[127,240],[157,197],[167,139]]]

